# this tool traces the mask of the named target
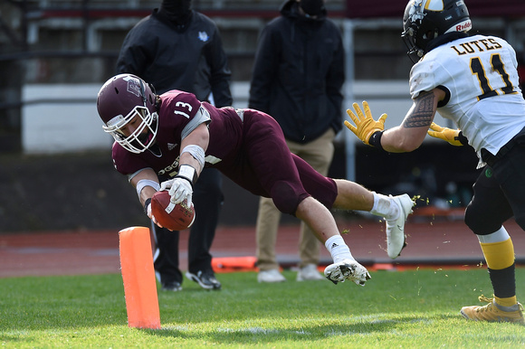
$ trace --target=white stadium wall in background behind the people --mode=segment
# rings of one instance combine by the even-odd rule
[[[101,129],[96,109],[99,84],[30,84],[24,86],[22,143],[24,154],[59,154],[108,149],[112,138]],[[249,82],[234,82],[235,108],[248,105]],[[348,96],[353,96],[349,100]],[[355,81],[343,108],[367,100],[374,118],[387,113],[387,127],[398,125],[412,105],[407,81]],[[343,111],[344,113],[344,111]],[[344,116],[346,117],[346,114]],[[443,118],[435,120],[450,126]],[[347,141],[358,142],[349,134]],[[360,142],[360,141],[359,141]]]

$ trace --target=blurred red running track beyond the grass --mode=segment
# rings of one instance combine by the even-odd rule
[[[472,265],[484,263],[479,243],[461,220],[422,220],[406,223],[407,247],[395,259],[387,257],[384,223],[370,220],[338,222],[354,257],[363,265]],[[518,264],[525,264],[525,234],[513,221],[510,232]],[[125,228],[125,227],[123,227]],[[180,266],[187,268],[187,234],[181,233]],[[283,267],[298,262],[299,227],[282,226],[276,252]],[[214,258],[255,256],[255,229],[221,226],[212,247]],[[321,247],[320,264],[329,264]],[[220,271],[220,270],[217,270]],[[119,273],[118,231],[41,231],[0,234],[0,278]]]

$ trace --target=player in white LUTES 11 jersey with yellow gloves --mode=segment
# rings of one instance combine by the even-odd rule
[[[384,130],[384,114],[375,121],[350,110],[345,125],[367,145],[387,152],[409,152],[428,134],[454,146],[467,143],[480,158],[482,174],[464,221],[477,235],[487,261],[494,297],[489,304],[463,307],[467,319],[523,324],[516,298],[514,248],[502,223],[514,216],[525,230],[525,100],[518,85],[516,53],[495,36],[466,32],[472,23],[462,0],[411,0],[403,17],[403,40],[415,61],[410,72],[414,104],[398,127]],[[432,123],[435,111],[459,127]],[[429,130],[429,128],[431,128]],[[460,131],[461,130],[461,131]]]

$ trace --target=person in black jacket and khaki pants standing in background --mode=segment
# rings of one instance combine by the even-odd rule
[[[343,126],[341,88],[345,53],[337,25],[324,0],[287,0],[281,16],[261,33],[248,107],[272,115],[281,125],[291,153],[317,172],[329,173],[334,138]],[[275,242],[281,212],[261,197],[256,224],[259,282],[286,281],[279,271]],[[297,280],[322,279],[320,242],[301,222]]]

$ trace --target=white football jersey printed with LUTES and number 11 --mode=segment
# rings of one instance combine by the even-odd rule
[[[410,94],[444,87],[450,96],[437,111],[452,119],[481,159],[493,155],[525,127],[516,52],[495,36],[474,35],[436,47],[410,72]],[[480,164],[482,165],[482,164]]]

